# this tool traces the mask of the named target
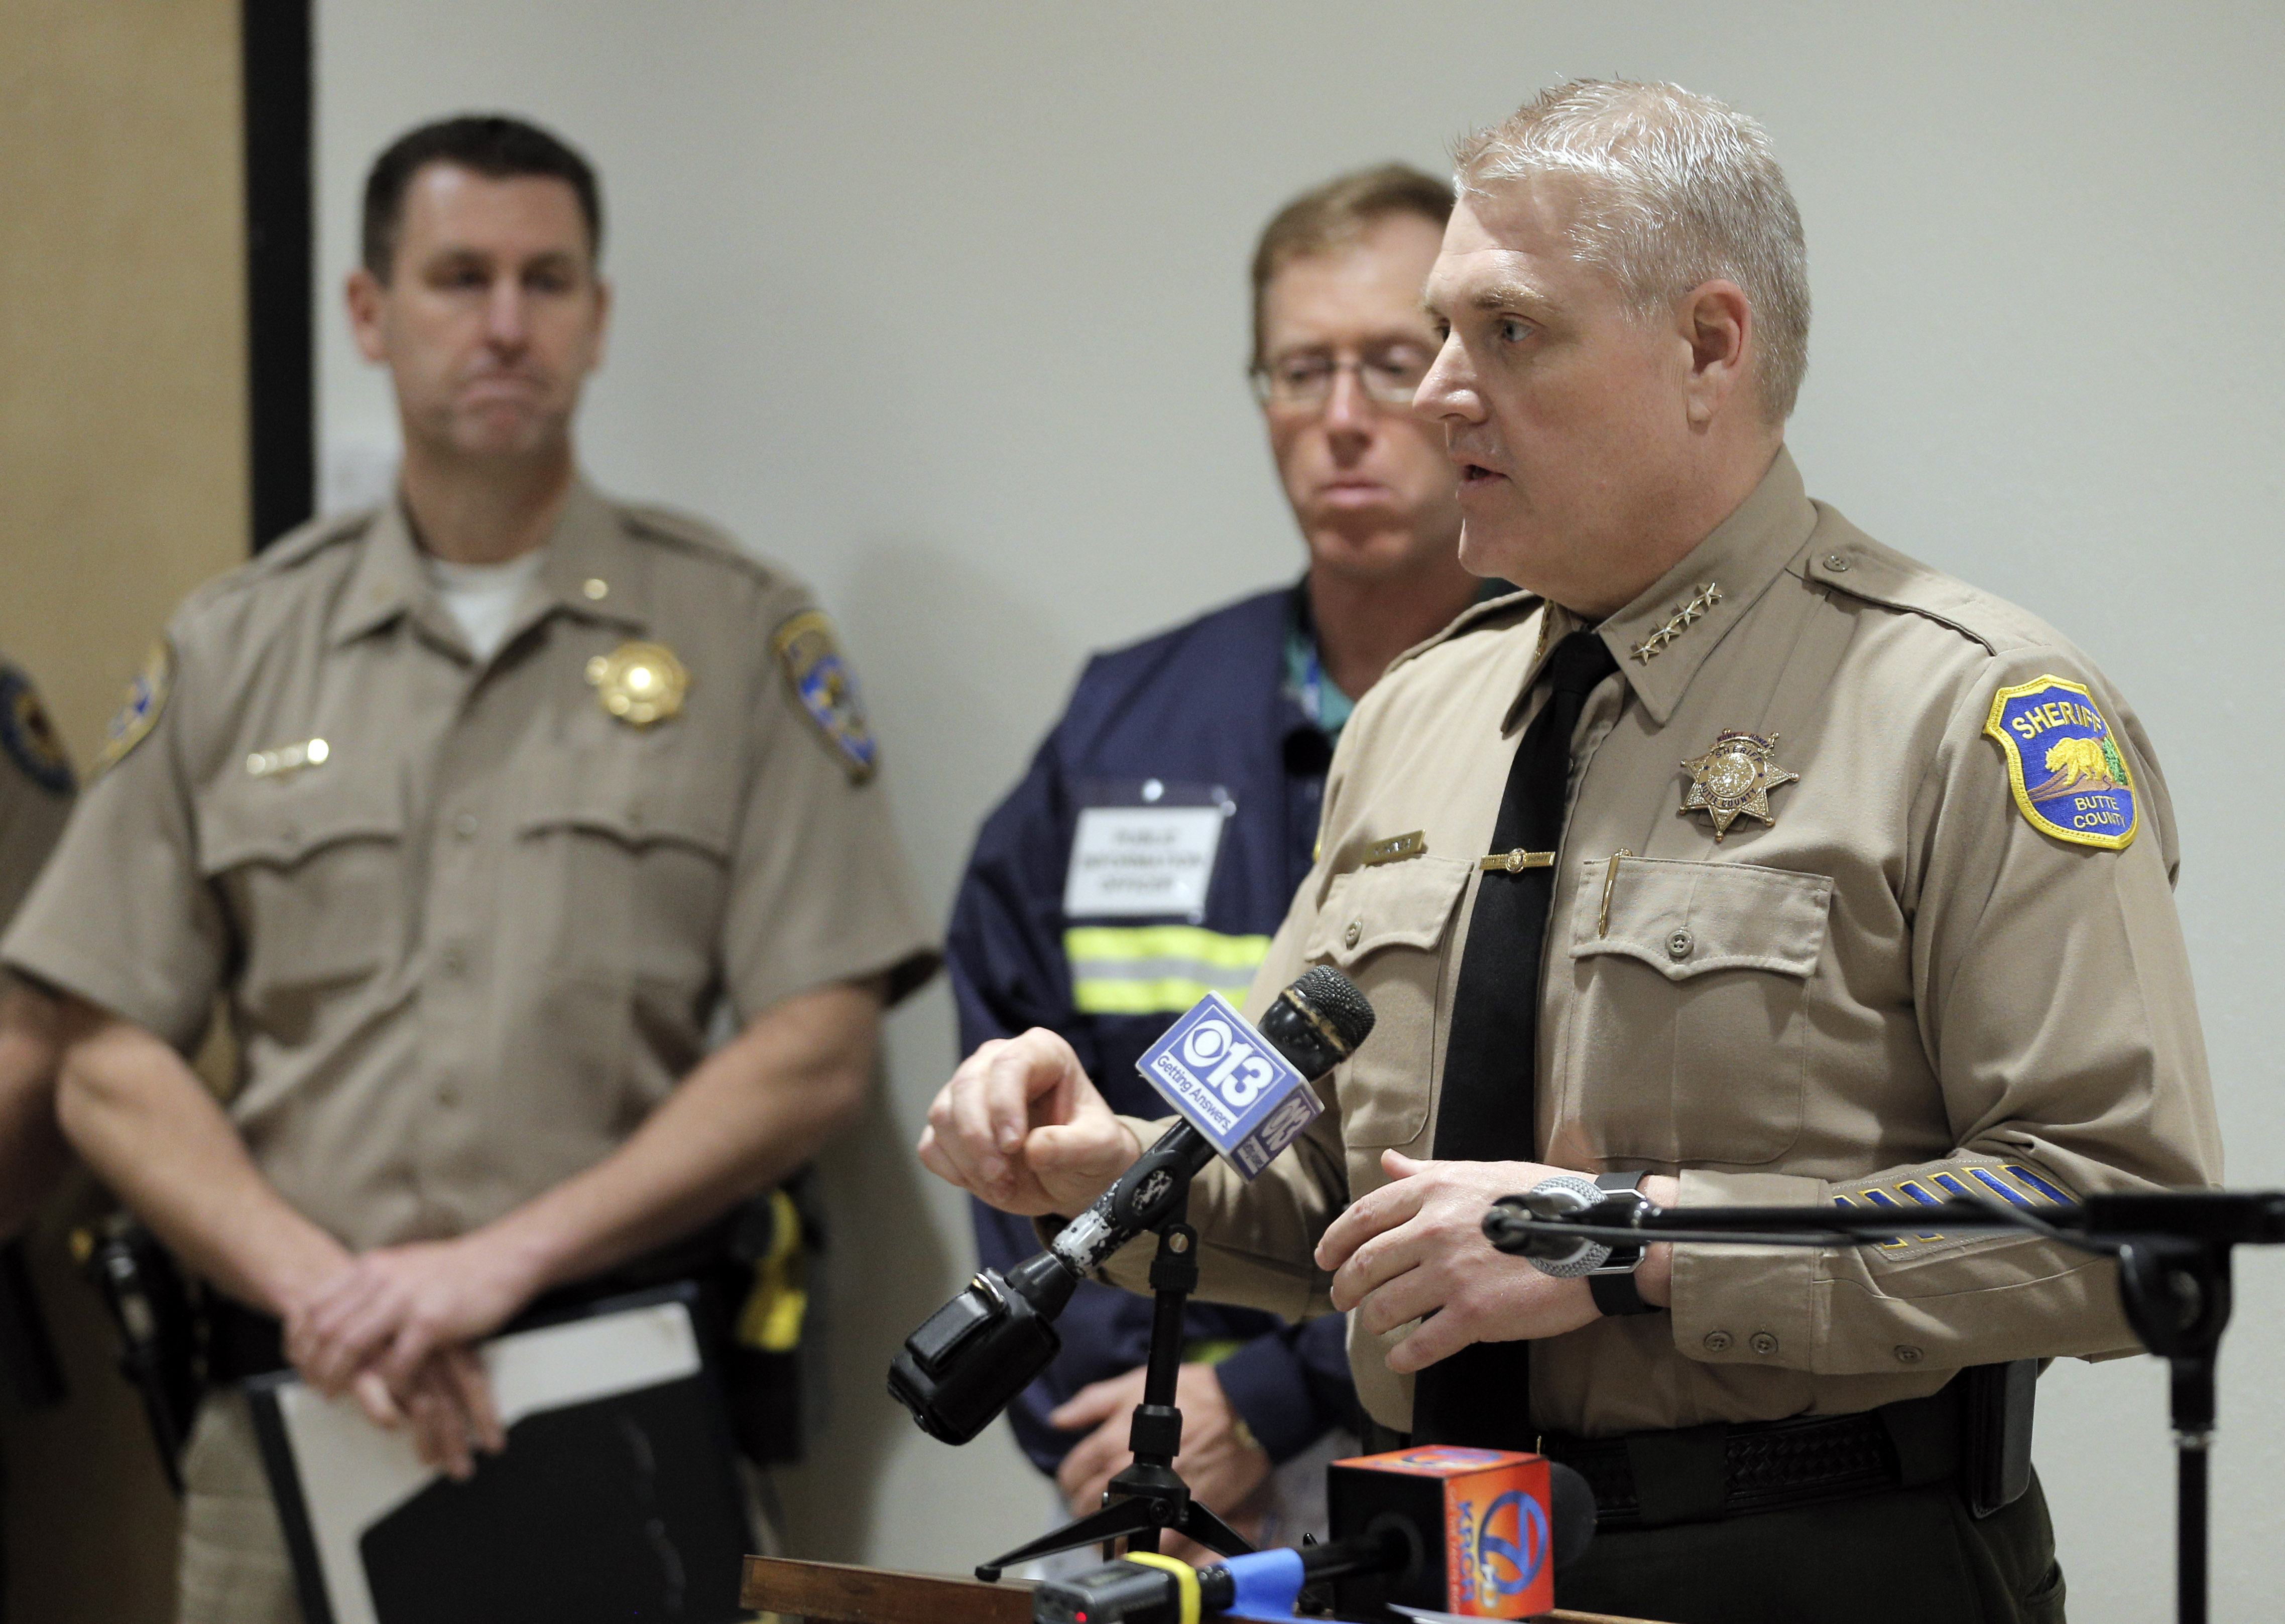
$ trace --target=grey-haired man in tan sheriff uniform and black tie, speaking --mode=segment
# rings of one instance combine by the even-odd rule
[[[1574,82],[1458,185],[1414,411],[1462,562],[1526,594],[1344,733],[1254,1000],[1332,964],[1380,1021],[1293,1156],[1200,1176],[1202,1291],[1350,1311],[1362,1400],[1417,1441],[1579,1466],[1563,1606],[2061,1619],[2036,1476],[2002,1469],[2027,1393],[1983,1377],[2130,1352],[2111,1263],[1908,1231],[1554,1279],[1478,1224],[1563,1174],[1899,1208],[2214,1179],[2157,761],[2061,635],[1803,493],[1803,233],[1757,123]],[[1026,1032],[921,1158],[1069,1215],[1154,1133]]]

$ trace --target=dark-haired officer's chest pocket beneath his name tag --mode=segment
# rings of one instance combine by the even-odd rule
[[[197,815],[199,870],[231,914],[238,998],[256,1021],[402,950],[404,799],[391,774],[233,777],[199,795]]]

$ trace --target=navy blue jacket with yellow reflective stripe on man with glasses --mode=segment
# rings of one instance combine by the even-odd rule
[[[1309,873],[1332,742],[1286,692],[1298,587],[1213,610],[1101,653],[1031,772],[985,820],[953,905],[946,962],[962,1051],[1031,1026],[1063,1032],[1111,1108],[1170,1115],[1136,1058],[1209,987],[1243,998],[1286,902]],[[1202,916],[1065,918],[1083,806],[1222,804]],[[1232,806],[1234,804],[1234,806]],[[1040,1249],[1031,1222],[976,1204],[976,1247],[1005,1270]],[[1047,1414],[1149,1352],[1149,1300],[1083,1284],[1063,1311],[1063,1354],[1010,1407],[1024,1450],[1053,1471],[1083,1432]],[[1344,1318],[1300,1327],[1193,1304],[1188,1343],[1243,1343],[1216,1368],[1270,1460],[1355,1416]],[[1216,1348],[1220,1352],[1222,1348]]]

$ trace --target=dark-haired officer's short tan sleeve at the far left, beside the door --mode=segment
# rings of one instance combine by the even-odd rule
[[[167,665],[158,715],[80,795],[0,959],[190,1053],[206,1035],[233,932],[199,868],[192,822],[187,735],[206,699],[201,672],[176,653]]]

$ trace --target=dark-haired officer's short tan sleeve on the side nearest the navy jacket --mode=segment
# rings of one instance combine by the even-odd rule
[[[768,621],[781,626],[807,610],[779,598]],[[752,688],[752,756],[722,923],[738,1019],[752,1021],[800,991],[882,973],[893,1003],[935,973],[937,950],[877,758],[852,751],[852,708],[813,710],[770,640],[756,642],[763,665]]]

